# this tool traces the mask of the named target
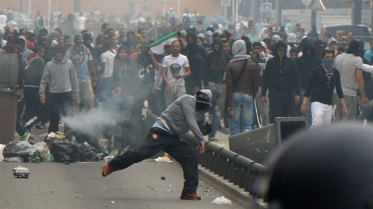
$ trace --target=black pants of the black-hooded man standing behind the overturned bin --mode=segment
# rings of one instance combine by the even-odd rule
[[[292,91],[269,89],[269,123],[275,123],[277,117],[289,117],[294,105]]]

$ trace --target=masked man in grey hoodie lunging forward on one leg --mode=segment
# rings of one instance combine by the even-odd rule
[[[205,124],[205,113],[209,110],[211,98],[210,90],[200,90],[196,91],[195,96],[186,94],[175,100],[154,123],[142,147],[128,150],[110,160],[101,168],[101,175],[105,177],[113,171],[125,169],[163,150],[183,168],[185,181],[180,199],[200,200],[201,197],[197,194],[197,156],[193,148],[181,141],[179,136],[191,130],[200,141],[197,149],[200,149],[200,154],[204,153],[203,136],[212,130],[211,124]]]

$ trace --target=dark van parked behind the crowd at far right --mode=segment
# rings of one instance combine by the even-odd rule
[[[346,35],[348,32],[354,32],[354,36],[370,36],[368,27],[366,25],[323,25],[321,28],[319,39],[326,40],[326,33],[329,33],[333,38],[337,38],[337,31],[344,30]]]

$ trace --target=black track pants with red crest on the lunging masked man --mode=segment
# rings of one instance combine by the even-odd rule
[[[160,150],[175,158],[183,168],[185,181],[181,196],[196,193],[198,187],[198,164],[195,150],[191,145],[181,141],[179,136],[170,135],[160,128],[154,127],[150,129],[141,148],[126,151],[110,160],[108,165],[112,171],[122,170],[153,156]]]

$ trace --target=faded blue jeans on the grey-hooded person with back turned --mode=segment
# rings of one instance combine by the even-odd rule
[[[239,134],[240,129],[242,132],[251,131],[253,124],[253,96],[247,94],[232,94],[232,109],[235,116],[229,118],[230,134]]]

